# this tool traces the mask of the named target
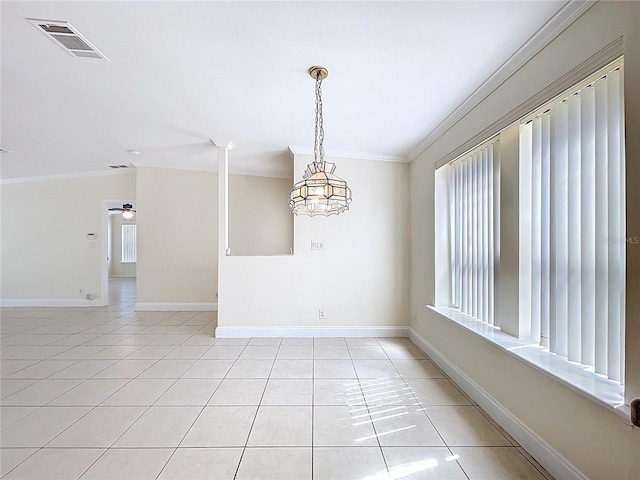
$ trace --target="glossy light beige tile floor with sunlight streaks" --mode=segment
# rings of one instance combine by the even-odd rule
[[[3,479],[551,479],[407,339],[216,339],[111,291],[2,309]]]

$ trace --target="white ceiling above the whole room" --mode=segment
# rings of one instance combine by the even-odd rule
[[[3,180],[133,164],[288,178],[313,146],[408,161],[568,2],[2,1]],[[27,19],[68,21],[108,58],[74,58]],[[134,155],[129,151],[141,152]]]

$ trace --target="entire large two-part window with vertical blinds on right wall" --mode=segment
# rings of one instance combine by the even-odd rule
[[[620,59],[443,165],[435,201],[437,307],[620,384],[622,69]]]

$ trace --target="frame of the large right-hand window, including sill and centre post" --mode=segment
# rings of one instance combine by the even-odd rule
[[[567,73],[563,77],[559,78],[556,82],[551,84],[547,89],[538,93],[529,101],[525,102],[523,105],[515,108],[509,114],[505,115],[503,118],[485,128],[482,132],[476,135],[473,139],[469,140],[465,144],[463,144],[458,149],[451,152],[449,155],[443,157],[441,160],[436,162],[435,164],[435,192],[434,192],[434,206],[435,206],[435,231],[434,231],[434,242],[435,242],[435,297],[434,304],[427,305],[427,308],[437,312],[438,314],[446,317],[450,321],[458,324],[462,328],[471,332],[474,335],[477,335],[483,341],[486,341],[495,347],[503,350],[507,354],[514,356],[521,360],[523,363],[539,370],[540,372],[548,375],[549,377],[554,378],[555,380],[560,381],[565,384],[570,389],[576,391],[583,397],[592,400],[593,402],[606,407],[610,411],[613,411],[619,418],[627,424],[630,424],[629,420],[629,406],[625,405],[625,387],[620,385],[619,383],[610,381],[603,376],[597,375],[591,371],[588,371],[587,368],[581,366],[579,364],[575,364],[567,361],[565,358],[558,357],[554,354],[545,351],[545,348],[540,346],[537,342],[532,342],[530,339],[530,331],[527,331],[526,328],[522,328],[522,325],[518,325],[520,315],[520,303],[516,302],[516,314],[513,314],[514,309],[513,305],[510,307],[505,307],[504,303],[505,298],[508,295],[505,295],[504,292],[498,292],[498,297],[502,297],[498,302],[499,304],[496,306],[496,315],[499,318],[501,323],[500,328],[492,327],[490,325],[484,324],[483,322],[474,319],[468,315],[462,314],[459,311],[451,308],[450,302],[448,299],[450,298],[451,291],[450,287],[444,288],[442,285],[442,280],[448,278],[448,276],[443,275],[443,269],[446,269],[446,263],[448,263],[448,255],[445,256],[447,258],[447,262],[442,262],[441,259],[445,253],[447,253],[446,243],[449,242],[449,237],[443,237],[442,231],[446,230],[441,228],[446,223],[443,223],[448,215],[443,214],[443,206],[445,206],[444,201],[447,198],[446,189],[442,188],[443,178],[441,171],[446,170],[441,167],[449,164],[452,161],[455,161],[459,157],[461,157],[462,152],[467,152],[471,150],[469,146],[471,145],[479,145],[482,139],[488,139],[493,135],[500,136],[501,141],[501,172],[500,178],[498,179],[499,183],[505,176],[508,181],[512,181],[514,178],[519,178],[519,133],[520,133],[520,123],[522,121],[526,121],[529,117],[535,116],[541,109],[544,109],[549,103],[552,103],[557,98],[562,98],[565,96],[565,92],[567,90],[575,89],[577,85],[587,84],[593,81],[593,76],[600,74],[600,71],[604,68],[608,68],[611,64],[615,63],[618,60],[622,60],[624,62],[622,56],[622,45],[621,42],[616,41],[613,42],[609,47],[603,49],[603,51],[594,55],[594,57],[587,60],[585,63],[579,65],[571,72]],[[596,72],[596,73],[594,73]],[[624,124],[623,124],[624,129]],[[498,133],[495,133],[498,132]],[[624,132],[623,132],[624,135]],[[506,150],[505,145],[508,143],[504,141],[505,137],[512,137],[512,150],[515,149],[516,154],[516,162],[515,165],[505,165],[503,152]],[[505,175],[505,166],[507,167]],[[624,185],[623,185],[624,187]],[[508,189],[508,187],[507,187]],[[500,192],[506,191],[505,188],[500,187]],[[516,199],[518,199],[519,188],[516,188]],[[504,207],[505,204],[508,203],[511,199],[501,198],[500,205]],[[519,199],[518,199],[519,200]],[[519,205],[519,203],[518,203]],[[509,208],[509,207],[508,207]],[[518,210],[518,208],[516,208]],[[513,226],[513,218],[515,218],[516,224],[516,237],[518,237],[519,231],[519,211],[513,217],[513,211],[511,210],[509,214],[512,216],[511,219],[508,219],[508,222],[504,222],[502,215],[503,212],[500,213],[499,221],[501,223],[512,223]],[[626,221],[626,220],[625,220]],[[512,229],[513,231],[513,229]],[[500,236],[503,237],[505,235],[504,226],[501,226]],[[517,272],[519,274],[520,263],[519,263],[519,249],[518,243],[519,238],[516,238],[515,241],[513,238],[509,238],[507,236],[509,245],[507,248],[505,247],[505,238],[500,239],[500,265],[498,267],[498,280],[497,282],[501,282],[501,285],[496,284],[496,288],[501,288],[504,284],[508,283],[508,278],[500,278],[500,277],[508,277],[506,275],[502,275],[505,270],[505,257],[511,255],[511,258],[508,260],[511,266],[514,265],[514,256],[513,251],[515,251],[515,265],[517,266]],[[515,242],[515,247],[514,247]],[[511,268],[513,270],[513,268]],[[518,283],[518,282],[511,282]],[[511,292],[513,293],[513,287],[510,286]],[[516,285],[516,292],[518,291],[519,286]],[[519,297],[519,296],[518,296]],[[503,305],[500,305],[503,303]],[[501,310],[501,311],[498,311]],[[505,312],[511,312],[513,315],[507,315],[508,320],[516,319],[515,321],[515,329],[513,331],[509,331],[507,328],[504,328],[504,316]],[[626,338],[628,336],[628,332],[624,332],[623,336]],[[628,358],[625,358],[625,363],[627,363]]]

